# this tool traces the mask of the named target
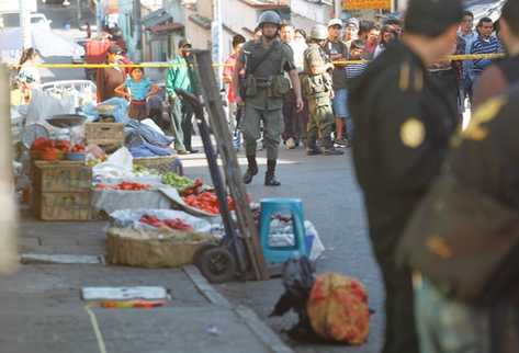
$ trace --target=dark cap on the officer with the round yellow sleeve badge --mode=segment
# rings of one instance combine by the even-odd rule
[[[405,18],[405,31],[437,37],[461,21],[461,0],[409,0]]]

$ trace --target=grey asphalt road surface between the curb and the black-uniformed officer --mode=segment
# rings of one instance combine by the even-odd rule
[[[260,172],[247,191],[255,201],[262,197],[298,197],[303,201],[305,218],[313,221],[327,248],[317,263],[317,272],[337,272],[354,276],[366,286],[370,307],[376,312],[371,319],[369,342],[359,348],[341,345],[298,344],[292,342],[283,329],[296,322],[294,315],[284,318],[269,318],[274,304],[283,292],[280,278],[267,282],[226,283],[216,289],[233,304],[252,308],[287,344],[301,353],[376,353],[383,343],[383,285],[374,262],[368,238],[362,195],[357,184],[351,150],[339,157],[307,157],[300,147],[294,150],[281,148],[278,176],[280,187],[263,186],[267,168],[264,152],[258,153]],[[211,178],[201,153],[182,157],[189,176]],[[240,164],[246,160],[240,153]]]

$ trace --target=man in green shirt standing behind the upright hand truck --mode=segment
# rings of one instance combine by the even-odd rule
[[[195,153],[191,147],[193,130],[193,109],[188,102],[182,102],[174,89],[194,93],[193,65],[191,62],[191,43],[187,39],[179,42],[179,55],[171,61],[166,73],[166,93],[171,106],[171,132],[174,137],[174,149],[179,155]]]

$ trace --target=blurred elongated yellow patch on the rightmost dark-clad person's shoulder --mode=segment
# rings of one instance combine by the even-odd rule
[[[471,122],[462,137],[472,140],[483,140],[488,135],[488,129],[483,127],[484,123],[493,121],[500,112],[501,107],[507,103],[506,96],[497,96],[489,99],[483,103],[473,114]]]

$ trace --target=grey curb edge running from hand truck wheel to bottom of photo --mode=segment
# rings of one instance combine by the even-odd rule
[[[187,265],[183,266],[182,270],[193,282],[196,289],[199,289],[211,304],[233,310],[272,353],[294,353],[267,323],[261,321],[255,311],[242,305],[233,307],[233,305],[205,280],[196,266]]]

